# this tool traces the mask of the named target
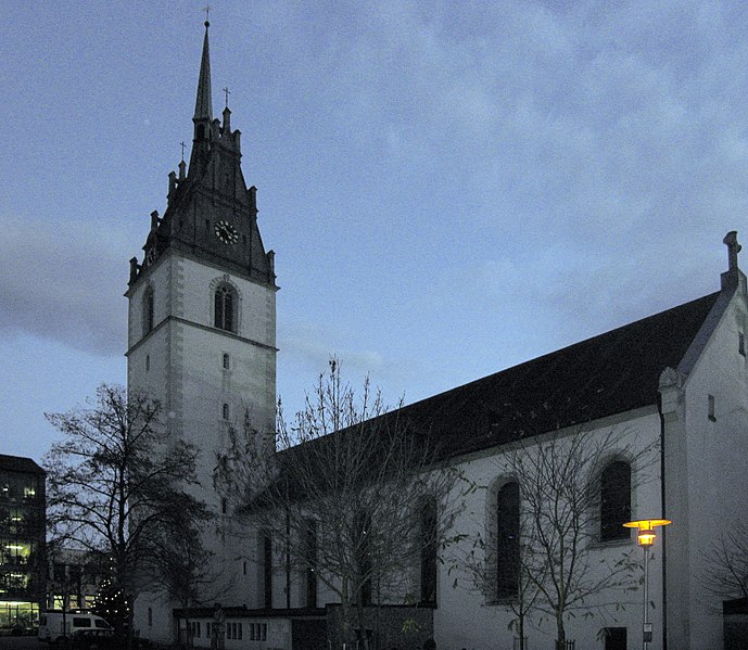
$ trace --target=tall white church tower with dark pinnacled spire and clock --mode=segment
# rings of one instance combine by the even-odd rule
[[[168,175],[163,216],[151,214],[143,256],[130,259],[127,383],[163,405],[170,435],[198,446],[202,498],[213,492],[214,451],[249,409],[275,425],[276,276],[257,228],[256,188],[241,170],[240,131],[228,105],[214,119],[208,26],[189,168]]]

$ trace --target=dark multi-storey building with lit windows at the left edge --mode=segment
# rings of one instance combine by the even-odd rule
[[[45,473],[0,455],[0,635],[33,633],[45,599]]]

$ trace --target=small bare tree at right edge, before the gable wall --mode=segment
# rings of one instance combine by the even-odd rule
[[[748,525],[736,522],[702,556],[701,584],[720,601],[748,598]],[[721,603],[720,603],[721,611]]]

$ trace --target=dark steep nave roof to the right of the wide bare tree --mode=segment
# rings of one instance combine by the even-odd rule
[[[658,400],[718,293],[405,407],[443,458],[596,420]]]

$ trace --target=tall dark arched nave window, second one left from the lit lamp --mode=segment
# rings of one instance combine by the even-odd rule
[[[519,484],[507,483],[496,493],[496,598],[519,592]]]

